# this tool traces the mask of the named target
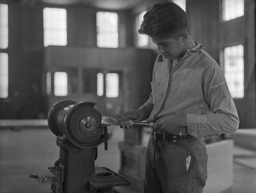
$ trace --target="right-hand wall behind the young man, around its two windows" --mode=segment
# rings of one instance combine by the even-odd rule
[[[255,2],[245,1],[245,15],[227,22],[220,21],[219,0],[187,1],[189,33],[201,42],[218,63],[224,47],[244,45],[245,97],[234,99],[240,128],[255,127]]]

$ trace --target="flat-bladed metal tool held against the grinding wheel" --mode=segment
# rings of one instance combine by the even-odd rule
[[[102,116],[101,124],[119,125],[119,126],[132,126],[132,125],[143,125],[150,126],[147,122],[133,122],[131,119],[124,119],[118,117],[106,117]]]

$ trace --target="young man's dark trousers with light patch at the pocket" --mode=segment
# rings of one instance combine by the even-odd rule
[[[145,157],[144,193],[202,192],[207,158],[204,141],[187,138],[162,142],[151,136]]]

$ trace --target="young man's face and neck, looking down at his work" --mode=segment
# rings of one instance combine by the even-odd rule
[[[186,52],[180,35],[167,38],[151,37],[151,39],[157,45],[158,53],[164,58],[170,60],[177,58],[179,61]]]

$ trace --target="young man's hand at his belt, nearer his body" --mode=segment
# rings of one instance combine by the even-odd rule
[[[151,127],[159,134],[172,133],[178,127],[187,126],[187,115],[183,113],[161,117]]]

